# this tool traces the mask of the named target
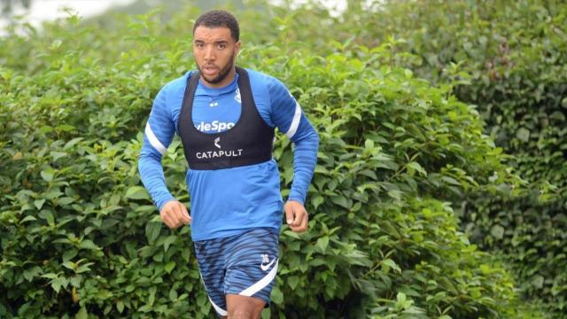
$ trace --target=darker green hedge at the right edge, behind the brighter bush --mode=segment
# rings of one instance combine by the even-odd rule
[[[544,300],[565,318],[567,4],[395,1],[382,11],[350,9],[344,17],[361,25],[356,41],[403,38],[403,50],[420,57],[409,61],[418,74],[433,82],[466,80],[456,96],[478,105],[486,132],[514,155],[509,164],[531,186],[522,198],[472,198],[460,213],[464,227],[509,256],[527,299]],[[452,72],[451,64],[470,77]]]

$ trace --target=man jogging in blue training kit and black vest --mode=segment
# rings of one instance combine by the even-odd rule
[[[218,315],[260,318],[276,276],[283,211],[291,230],[307,230],[304,202],[319,139],[282,82],[235,65],[240,47],[229,12],[198,17],[198,72],[167,83],[155,97],[139,171],[162,221],[171,229],[191,224],[199,271]],[[285,205],[271,157],[275,128],[295,144]],[[175,132],[189,162],[191,215],[167,191],[161,166]]]

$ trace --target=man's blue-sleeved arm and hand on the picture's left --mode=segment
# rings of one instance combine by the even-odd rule
[[[159,208],[159,215],[169,228],[190,222],[187,208],[167,190],[161,158],[175,134],[175,123],[167,108],[167,87],[159,90],[144,129],[144,144],[138,159],[138,171],[144,187]]]

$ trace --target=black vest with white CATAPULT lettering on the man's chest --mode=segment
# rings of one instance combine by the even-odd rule
[[[213,134],[199,131],[193,124],[198,72],[187,80],[177,127],[191,169],[241,167],[272,159],[274,128],[270,128],[258,113],[246,70],[237,66],[237,74],[242,101],[240,118],[234,127]]]

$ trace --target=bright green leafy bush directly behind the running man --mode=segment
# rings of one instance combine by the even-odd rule
[[[248,39],[274,23],[242,15],[255,18],[243,19]],[[70,18],[0,40],[1,316],[213,314],[190,229],[159,222],[136,172],[152,98],[192,67],[187,16],[196,10],[169,23],[123,18],[113,33]],[[283,31],[291,20],[280,20]],[[327,45],[317,54],[303,40],[246,43],[239,59],[285,82],[321,137],[310,231],[283,229],[272,313],[540,316],[524,312],[508,273],[470,245],[444,200],[520,183],[476,108],[454,97],[458,82],[416,78],[395,41],[314,39]],[[278,136],[284,196],[291,148]],[[177,140],[164,165],[170,190],[188,201]]]

